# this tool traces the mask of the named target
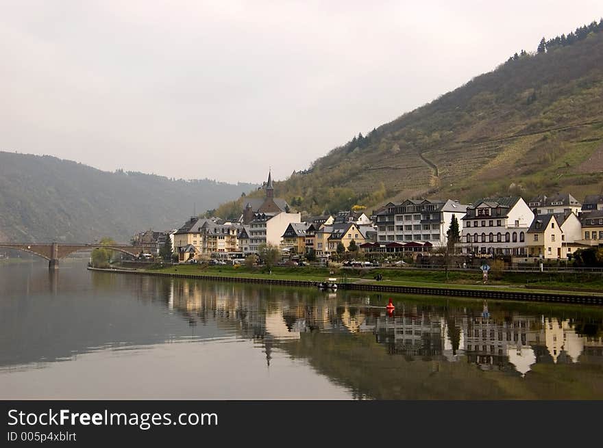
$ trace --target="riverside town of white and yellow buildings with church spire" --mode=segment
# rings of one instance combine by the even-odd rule
[[[371,264],[384,259],[412,263],[438,255],[478,263],[502,259],[511,265],[576,258],[588,264],[603,246],[603,195],[586,196],[583,202],[569,193],[550,192],[527,201],[506,196],[471,204],[407,199],[369,215],[352,209],[302,217],[275,197],[271,173],[262,189],[264,198],[246,200],[238,220],[193,216],[178,229],[138,233],[132,244],[148,247],[149,259],[169,247],[177,263],[236,264],[271,247],[280,251],[283,262],[321,265],[349,263],[350,256]]]

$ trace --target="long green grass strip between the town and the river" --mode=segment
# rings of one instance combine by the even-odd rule
[[[173,274],[198,276],[222,276],[238,278],[272,278],[281,280],[322,281],[334,276],[339,282],[362,282],[376,285],[400,285],[417,287],[440,287],[455,289],[504,289],[506,291],[526,291],[526,285],[533,292],[551,292],[551,289],[571,289],[564,293],[582,295],[603,295],[603,275],[597,273],[580,274],[542,274],[542,273],[502,273],[490,276],[487,285],[481,281],[479,271],[449,272],[446,280],[445,272],[418,271],[413,269],[335,269],[326,267],[273,267],[267,269],[246,266],[206,266],[177,265],[170,267],[149,267],[146,270]],[[334,274],[331,274],[334,272]],[[374,280],[381,274],[382,280]],[[591,290],[591,291],[588,291]]]

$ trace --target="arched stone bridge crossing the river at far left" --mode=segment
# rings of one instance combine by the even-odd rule
[[[130,246],[127,244],[103,246],[99,243],[0,243],[0,249],[1,248],[21,250],[22,252],[41,256],[43,259],[48,260],[48,267],[50,269],[58,268],[60,259],[64,259],[69,254],[73,254],[73,252],[79,250],[110,249],[134,257],[149,250],[149,248],[145,246]]]

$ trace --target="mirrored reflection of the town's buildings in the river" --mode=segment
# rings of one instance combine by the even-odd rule
[[[311,332],[373,333],[389,354],[441,360],[524,376],[535,363],[603,364],[603,338],[580,336],[577,323],[554,317],[501,315],[495,309],[455,313],[435,307],[397,307],[395,317],[368,300],[295,288],[266,289],[226,282],[170,280],[168,306],[198,326],[214,325],[258,343],[267,358],[281,344]],[[582,328],[584,330],[584,328]],[[595,334],[597,328],[586,328]]]

